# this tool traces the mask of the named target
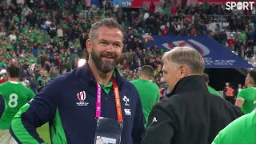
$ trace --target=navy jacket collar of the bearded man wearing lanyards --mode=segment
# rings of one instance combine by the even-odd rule
[[[114,72],[116,74],[115,80],[118,84],[118,87],[120,88],[122,86],[122,82],[124,82],[124,80],[120,76],[117,68],[114,69]],[[88,63],[86,63],[84,66],[78,67],[75,74],[78,76],[78,78],[82,78],[89,82],[97,83],[94,78],[94,74],[90,70],[90,66]]]

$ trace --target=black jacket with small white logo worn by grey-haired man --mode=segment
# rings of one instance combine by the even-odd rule
[[[210,94],[202,76],[182,78],[154,106],[142,144],[208,144],[242,116],[238,106]]]

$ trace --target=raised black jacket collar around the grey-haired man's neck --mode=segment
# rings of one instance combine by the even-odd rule
[[[176,83],[174,90],[167,94],[167,97],[190,90],[207,90],[206,82],[202,76],[194,75],[182,78]]]

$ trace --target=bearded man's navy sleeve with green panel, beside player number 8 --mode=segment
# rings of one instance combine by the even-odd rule
[[[10,125],[10,134],[18,143],[44,143],[36,129],[54,119],[55,96],[59,95],[58,80],[48,83],[30,102],[26,103],[14,116]]]

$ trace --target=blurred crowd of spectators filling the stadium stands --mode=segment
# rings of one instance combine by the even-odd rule
[[[110,17],[124,30],[123,60],[117,67],[128,80],[138,78],[141,67],[148,64],[154,67],[152,81],[164,87],[160,58],[165,51],[148,46],[143,34],[210,36],[255,64],[255,8],[226,11],[208,3],[172,6],[164,2],[160,8],[151,3],[148,8],[127,12],[109,0],[102,1],[100,9],[78,1],[17,1],[0,5],[1,79],[6,76],[6,65],[16,62],[22,67],[24,85],[34,91],[45,86],[86,58],[90,26]]]

